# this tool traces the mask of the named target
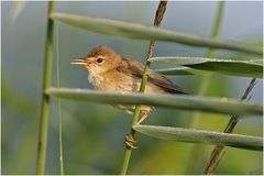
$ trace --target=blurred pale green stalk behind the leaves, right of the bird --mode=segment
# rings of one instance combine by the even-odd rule
[[[223,4],[224,4],[223,1],[218,2],[217,16],[216,16],[211,38],[218,38],[219,37],[220,29],[221,29],[221,24],[222,24]],[[215,58],[216,55],[217,55],[216,54],[216,48],[209,48],[208,50],[207,57]],[[209,74],[209,73],[202,77],[202,79],[200,81],[199,91],[198,91],[199,95],[205,95],[208,91],[211,77],[212,77],[212,75]],[[201,117],[200,112],[197,112],[197,113],[194,114],[194,118],[193,118],[194,120],[191,122],[191,128],[195,128],[199,124],[200,117]],[[195,163],[198,158],[197,157],[198,155],[199,155],[199,145],[193,146],[193,148],[190,150],[190,158],[189,158],[189,162],[187,164],[186,174],[193,174]]]

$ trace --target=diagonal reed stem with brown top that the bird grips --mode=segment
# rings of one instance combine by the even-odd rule
[[[164,13],[166,11],[166,6],[167,6],[167,1],[166,0],[162,0],[160,1],[158,8],[156,10],[156,15],[155,15],[155,20],[154,20],[154,26],[158,28],[161,26]],[[151,41],[150,46],[148,46],[148,53],[147,53],[147,59],[146,59],[146,64],[144,67],[144,74],[141,80],[141,87],[140,87],[140,92],[144,92],[145,90],[145,86],[147,82],[147,74],[150,72],[150,67],[151,67],[151,61],[150,58],[152,57],[153,53],[154,53],[154,48],[155,48],[155,42]],[[131,122],[131,130],[129,135],[133,136],[135,135],[135,130],[133,129],[133,127],[136,124],[139,117],[140,117],[140,109],[141,106],[136,106],[135,107],[135,111],[134,111],[134,116]],[[132,148],[131,147],[127,147],[125,153],[124,153],[124,158],[123,158],[123,165],[122,165],[122,169],[121,169],[121,174],[122,175],[127,175],[128,173],[128,167],[129,167],[129,162],[131,158],[131,153],[132,153]]]

